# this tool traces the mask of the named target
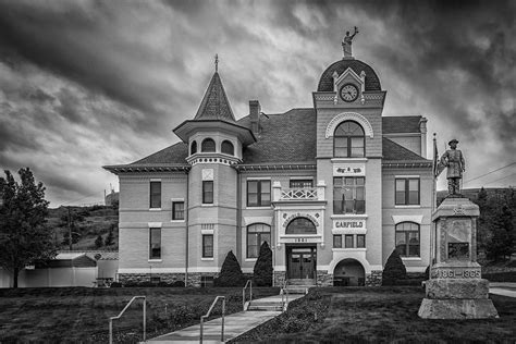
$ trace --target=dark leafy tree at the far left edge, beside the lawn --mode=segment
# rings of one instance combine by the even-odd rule
[[[0,177],[0,266],[12,273],[17,287],[20,271],[28,265],[56,257],[52,230],[46,225],[48,201],[45,186],[26,168],[20,183],[10,171]]]

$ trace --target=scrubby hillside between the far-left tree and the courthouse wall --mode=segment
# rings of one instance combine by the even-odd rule
[[[70,212],[69,212],[70,211]],[[70,213],[70,218],[69,218]],[[102,245],[100,249],[118,249],[119,247],[119,211],[112,207],[59,207],[49,209],[48,224],[54,229],[54,239],[59,249],[69,249],[67,244],[63,244],[65,235],[69,233],[67,221],[72,219],[72,232],[77,239],[73,244],[73,249],[95,249],[95,241],[98,235],[102,236],[102,242],[113,229],[113,245]],[[103,244],[102,243],[102,244]]]

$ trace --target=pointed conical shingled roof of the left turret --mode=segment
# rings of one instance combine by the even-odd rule
[[[194,118],[194,121],[202,120],[219,120],[235,123],[235,116],[231,110],[230,101],[228,100],[218,72],[214,72],[211,77],[205,97],[200,102],[199,110],[197,110],[197,114]]]

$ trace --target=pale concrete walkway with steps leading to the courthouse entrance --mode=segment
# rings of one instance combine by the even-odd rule
[[[290,295],[288,302],[292,302],[296,298],[303,297],[304,295]],[[274,295],[269,297],[263,297],[255,299],[254,302],[281,302],[281,295]],[[271,311],[271,310],[249,310],[241,311],[225,316],[224,319],[224,341],[234,339],[247,331],[253,330],[254,328],[271,320],[272,318],[281,315],[281,311]],[[204,339],[202,343],[221,343],[221,323],[222,318],[213,319],[205,322],[204,325]],[[147,342],[151,344],[165,344],[165,343],[193,343],[199,342],[200,324],[195,324],[183,330],[179,330],[172,333],[163,334]]]

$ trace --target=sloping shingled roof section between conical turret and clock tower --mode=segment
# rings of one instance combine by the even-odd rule
[[[250,118],[238,120],[250,127]],[[314,109],[292,109],[260,116],[257,142],[244,148],[244,164],[316,162],[317,133]]]

